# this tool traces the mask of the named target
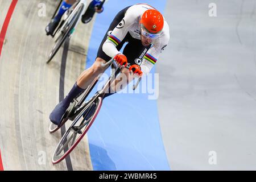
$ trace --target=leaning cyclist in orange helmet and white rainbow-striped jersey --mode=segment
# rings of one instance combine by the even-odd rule
[[[52,111],[49,116],[51,122],[55,125],[60,124],[61,117],[73,99],[84,92],[94,78],[105,71],[101,67],[102,63],[112,58],[121,67],[130,63],[130,70],[122,69],[129,83],[134,75],[142,77],[150,73],[169,39],[169,26],[163,15],[154,7],[141,3],[121,10],[106,31],[92,67],[82,72],[68,96]],[[120,52],[126,42],[128,43],[123,52]],[[131,73],[134,75],[130,76]],[[105,97],[119,90],[114,88],[110,91],[113,92],[106,93]]]

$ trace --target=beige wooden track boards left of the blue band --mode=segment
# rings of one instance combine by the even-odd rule
[[[39,3],[46,5],[44,17],[38,15]],[[5,170],[92,170],[86,138],[69,159],[51,163],[61,132],[49,134],[49,113],[64,97],[60,80],[66,95],[85,68],[93,27],[93,21],[77,27],[69,43],[65,77],[60,79],[63,47],[47,65],[53,39],[44,32],[58,3],[19,0],[5,36],[0,57],[0,149]],[[10,4],[0,0],[1,27]]]

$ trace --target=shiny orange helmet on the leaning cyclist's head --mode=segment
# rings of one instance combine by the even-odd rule
[[[158,34],[163,29],[164,18],[158,10],[150,9],[144,12],[139,23],[143,24],[148,33]]]

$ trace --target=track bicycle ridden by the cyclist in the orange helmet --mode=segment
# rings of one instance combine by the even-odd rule
[[[79,144],[84,135],[88,132],[90,126],[92,126],[94,120],[97,117],[104,100],[104,95],[106,90],[109,89],[112,81],[115,80],[115,77],[118,73],[121,72],[120,69],[115,63],[114,59],[110,60],[108,63],[102,64],[102,68],[108,68],[111,65],[112,73],[106,81],[105,85],[101,90],[96,92],[92,98],[88,101],[85,101],[89,93],[92,91],[94,86],[100,80],[101,75],[99,75],[93,82],[88,86],[88,88],[82,93],[78,98],[75,98],[71,105],[69,105],[67,111],[61,118],[59,126],[51,123],[49,126],[49,132],[54,133],[59,130],[68,120],[73,121],[69,126],[63,137],[60,139],[60,142],[57,144],[57,147],[52,156],[52,163],[57,164],[65,159],[72,150]],[[130,65],[127,65],[127,69],[130,68]],[[137,83],[133,85],[133,90],[135,90],[141,81],[141,78],[138,79]]]

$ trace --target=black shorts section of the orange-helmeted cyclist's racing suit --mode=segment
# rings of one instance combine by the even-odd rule
[[[108,36],[114,30],[114,28],[117,27],[118,23],[120,23],[123,17],[125,17],[125,13],[127,9],[129,9],[129,7],[126,7],[125,9],[121,10],[115,16],[113,22],[110,24],[109,29],[104,36],[104,39],[102,39],[100,47],[98,48],[97,57],[100,57],[105,61],[109,61],[110,59],[112,59],[112,57],[109,57],[108,55],[105,54],[105,52],[102,50],[102,46],[105,43]],[[141,40],[134,39],[128,32],[125,38],[122,40],[122,42],[118,44],[117,46],[118,51],[121,50],[121,48],[123,47],[123,44],[125,44],[126,42],[127,44],[123,49],[123,54],[127,57],[128,63],[130,63],[131,65],[133,64],[141,65],[142,59],[146,54],[146,52],[148,51],[148,49],[151,47],[151,45],[144,47],[141,43]]]

